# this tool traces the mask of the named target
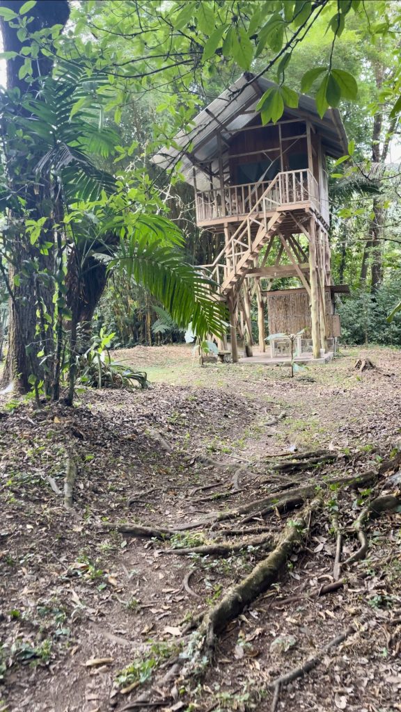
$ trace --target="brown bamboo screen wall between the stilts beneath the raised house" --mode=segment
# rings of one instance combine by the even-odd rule
[[[276,290],[265,295],[270,334],[296,334],[305,329],[305,338],[311,337],[309,297],[305,289]],[[334,314],[330,289],[325,290],[325,305],[328,337],[340,336],[340,322]]]

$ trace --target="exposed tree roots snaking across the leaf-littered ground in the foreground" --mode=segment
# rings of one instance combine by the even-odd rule
[[[320,456],[319,456],[320,457]],[[300,460],[302,462],[302,460]],[[154,529],[151,527],[139,527],[138,525],[107,525],[108,528],[117,528],[118,530],[133,533],[139,536],[156,536],[160,539],[166,539],[169,536],[177,533],[179,530],[185,530],[189,528],[196,528],[198,526],[207,527],[210,525],[216,525],[220,522],[230,519],[238,519],[241,515],[245,515],[245,520],[255,518],[256,515],[267,513],[268,511],[274,511],[277,509],[283,511],[285,509],[290,509],[299,504],[303,505],[303,508],[296,518],[293,520],[287,520],[283,528],[280,538],[278,538],[277,543],[275,543],[275,548],[266,554],[263,560],[260,560],[257,565],[253,568],[253,571],[241,580],[238,584],[230,587],[222,599],[215,603],[215,605],[206,611],[200,612],[183,628],[181,639],[181,644],[183,648],[181,649],[180,661],[177,659],[171,659],[169,661],[170,669],[168,671],[168,679],[177,679],[181,676],[181,681],[185,684],[186,679],[190,678],[195,674],[200,674],[204,672],[205,665],[210,661],[213,654],[213,649],[215,647],[215,642],[218,635],[225,629],[225,627],[238,617],[243,610],[252,605],[256,599],[270,587],[278,578],[280,569],[285,565],[288,557],[292,555],[294,550],[300,545],[308,535],[310,528],[310,520],[313,517],[315,511],[320,508],[321,502],[323,501],[324,491],[330,489],[332,484],[340,484],[345,488],[360,488],[365,486],[367,482],[375,482],[379,478],[380,474],[383,472],[394,468],[397,466],[396,459],[392,461],[387,461],[382,463],[380,468],[377,470],[370,470],[362,474],[357,474],[356,476],[346,476],[331,478],[330,480],[325,479],[319,482],[320,485],[320,495],[315,496],[317,481],[308,481],[304,486],[298,486],[291,491],[284,491],[283,489],[274,495],[270,494],[267,497],[261,498],[260,500],[253,501],[244,506],[240,506],[229,512],[213,512],[210,515],[205,516],[203,520],[198,522],[193,522],[190,525],[183,525],[182,527],[176,527],[175,530],[169,529]],[[313,498],[313,501],[310,499]],[[305,501],[309,503],[305,504]],[[372,502],[363,510],[358,520],[360,522],[360,531],[362,532],[363,525],[368,518],[380,515],[382,511],[395,511],[395,509],[400,505],[400,499],[396,497],[380,497],[372,500]],[[340,528],[337,520],[334,522],[334,528],[336,533],[336,557],[335,557],[335,573],[340,573],[340,555],[341,555],[341,540],[340,540]],[[266,531],[266,527],[255,525],[248,530],[242,530],[241,528],[225,530],[220,528],[220,535],[233,535],[235,533],[240,533],[241,540],[235,541],[235,543],[210,543],[208,545],[203,545],[200,547],[185,548],[185,549],[168,549],[166,553],[175,555],[187,555],[191,553],[198,553],[201,555],[229,555],[235,551],[246,548],[250,545],[265,545],[270,544],[270,532],[267,531],[266,534],[260,534],[260,532]],[[257,534],[257,536],[250,538],[250,534]],[[355,555],[354,555],[355,556]],[[356,560],[350,557],[347,563]],[[337,567],[337,568],[336,568]],[[188,572],[183,581],[183,587],[193,598],[198,597],[196,592],[194,592],[190,585],[190,577],[193,573],[193,569]],[[336,576],[335,576],[336,577]],[[337,578],[337,577],[336,577]],[[320,588],[315,588],[310,591],[307,597],[311,596],[322,596],[330,592],[334,592],[341,588],[345,583],[345,580],[337,580],[330,582],[321,586]],[[305,594],[302,594],[302,596]],[[299,594],[298,594],[299,597]],[[296,598],[296,597],[295,597]],[[278,601],[278,605],[285,605],[285,600]],[[195,631],[190,634],[190,630],[195,629]],[[342,633],[333,641],[329,642],[322,650],[318,651],[313,658],[305,661],[303,665],[297,669],[290,671],[289,673],[280,676],[278,679],[273,680],[268,686],[274,691],[274,704],[277,706],[280,697],[280,689],[283,686],[289,684],[291,681],[298,679],[299,677],[308,674],[315,666],[320,664],[325,654],[339,645],[346,637],[355,632],[355,628],[348,628],[344,633]],[[153,691],[156,697],[156,693],[160,690],[162,679],[154,681]],[[143,695],[142,699],[146,705],[151,706],[151,691]],[[133,703],[133,707],[141,706],[141,698],[138,698],[136,702]],[[275,707],[272,707],[272,710]]]

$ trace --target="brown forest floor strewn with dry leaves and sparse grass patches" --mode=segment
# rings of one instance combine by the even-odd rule
[[[401,710],[400,508],[364,510],[400,495],[401,351],[294,379],[186,346],[116,355],[152,388],[1,403],[0,711]],[[253,576],[231,609],[283,537],[273,585]],[[200,622],[222,601],[210,657]]]

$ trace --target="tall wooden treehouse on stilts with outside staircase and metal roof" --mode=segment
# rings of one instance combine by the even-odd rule
[[[266,305],[270,334],[278,324],[283,333],[303,331],[300,357],[309,351],[325,358],[340,335],[330,275],[326,157],[345,155],[347,137],[339,112],[330,109],[322,119],[305,95],[298,108],[285,108],[278,122],[263,125],[256,105],[273,86],[243,75],[195,117],[191,132],[154,157],[162,167],[180,161],[195,190],[196,222],[210,254],[201,268],[216,283],[215,298],[228,305],[233,362],[238,335],[252,355],[255,302],[260,352],[266,350]],[[296,278],[300,288],[272,290],[284,278]],[[274,356],[274,340],[271,347]]]

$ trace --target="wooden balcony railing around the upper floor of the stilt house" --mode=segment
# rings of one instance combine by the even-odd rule
[[[200,226],[240,222],[255,208],[269,214],[310,207],[329,223],[328,199],[320,199],[318,182],[309,169],[278,173],[272,181],[213,188],[196,192],[196,221]]]

